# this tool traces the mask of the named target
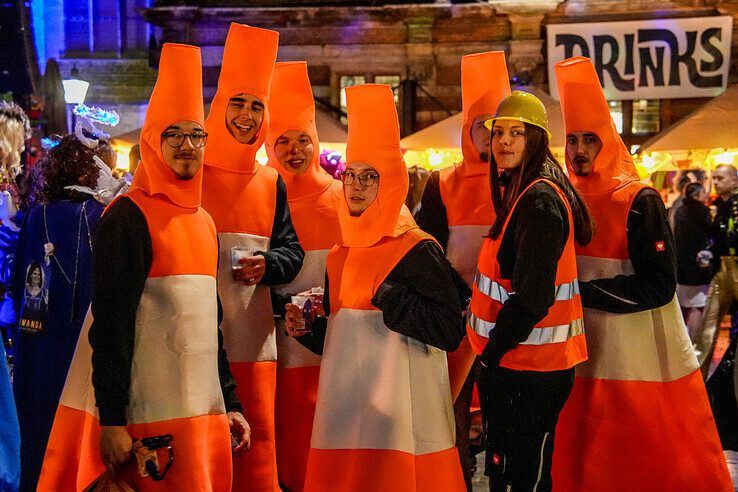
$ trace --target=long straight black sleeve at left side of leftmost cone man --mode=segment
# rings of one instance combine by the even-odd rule
[[[151,269],[146,217],[129,198],[102,216],[92,255],[92,385],[100,425],[125,425],[136,311]]]

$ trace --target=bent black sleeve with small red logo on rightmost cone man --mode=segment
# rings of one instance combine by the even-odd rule
[[[667,304],[676,291],[674,237],[661,197],[641,191],[628,213],[628,254],[634,273],[580,282],[584,307],[634,313]]]

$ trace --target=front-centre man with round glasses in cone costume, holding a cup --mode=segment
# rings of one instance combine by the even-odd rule
[[[443,352],[463,337],[452,268],[404,206],[391,88],[360,85],[346,97],[327,323],[305,333],[301,310],[287,305],[288,332],[323,355],[305,490],[462,491]]]

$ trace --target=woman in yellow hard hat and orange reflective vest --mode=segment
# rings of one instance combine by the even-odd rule
[[[546,110],[514,91],[486,122],[495,222],[482,245],[467,334],[480,355],[490,490],[551,490],[553,438],[587,359],[574,245],[593,226],[549,149]]]

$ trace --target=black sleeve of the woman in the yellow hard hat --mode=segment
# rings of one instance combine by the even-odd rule
[[[510,221],[514,221],[510,231],[514,245],[510,283],[514,293],[502,305],[497,325],[482,352],[481,360],[487,367],[499,365],[508,351],[524,342],[555,301],[556,270],[570,233],[569,225],[566,209],[553,189],[546,184],[535,187],[548,189],[526,193]],[[503,238],[503,248],[507,239]]]

